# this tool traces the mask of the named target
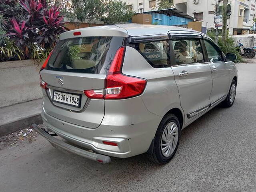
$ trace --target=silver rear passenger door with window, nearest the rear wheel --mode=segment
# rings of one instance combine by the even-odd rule
[[[170,46],[171,67],[186,124],[210,107],[211,69],[205,62],[200,35],[172,35]]]

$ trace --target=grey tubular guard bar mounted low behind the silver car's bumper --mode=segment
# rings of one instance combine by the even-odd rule
[[[64,149],[68,152],[72,152],[79,156],[83,156],[90,160],[98,161],[98,162],[101,162],[104,164],[109,163],[111,161],[109,156],[89,152],[89,151],[80,149],[78,147],[72,146],[70,144],[67,144],[61,140],[58,140],[58,139],[54,138],[53,136],[51,136],[50,134],[48,134],[48,132],[39,128],[36,124],[32,124],[32,127],[34,128],[34,130],[36,130],[36,132],[38,132],[41,136],[46,138],[46,140],[48,140],[52,144],[52,146],[54,146],[56,148]]]

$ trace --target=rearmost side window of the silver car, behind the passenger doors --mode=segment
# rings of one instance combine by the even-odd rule
[[[135,48],[154,68],[170,67],[169,42],[153,41],[130,44]]]

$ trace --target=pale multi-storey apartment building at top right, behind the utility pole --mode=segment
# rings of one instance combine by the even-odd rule
[[[202,26],[215,29],[214,14],[217,0],[174,0],[174,4],[178,10],[194,16],[197,21],[202,21]],[[229,33],[248,33],[256,16],[256,0],[228,0],[228,4],[231,5],[231,15],[227,21]]]

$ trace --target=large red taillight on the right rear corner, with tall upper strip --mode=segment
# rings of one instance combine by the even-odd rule
[[[92,99],[126,99],[142,94],[146,80],[122,74],[125,47],[120,47],[108,70],[105,88],[84,90],[84,94]]]

